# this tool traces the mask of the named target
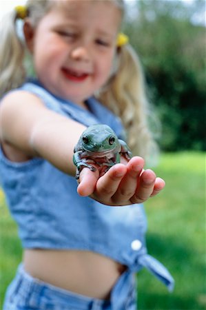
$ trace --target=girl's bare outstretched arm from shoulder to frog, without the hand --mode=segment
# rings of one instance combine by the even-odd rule
[[[28,92],[12,92],[1,102],[1,140],[28,156],[40,156],[74,175],[74,145],[85,126],[49,110]]]

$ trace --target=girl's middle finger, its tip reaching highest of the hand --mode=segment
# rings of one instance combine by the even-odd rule
[[[127,163],[127,174],[121,180],[119,189],[114,194],[113,199],[130,200],[134,195],[138,183],[138,176],[143,171],[144,160],[141,157],[133,157],[129,163]]]

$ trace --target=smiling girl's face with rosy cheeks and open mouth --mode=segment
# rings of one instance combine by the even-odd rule
[[[110,1],[56,1],[30,36],[41,83],[82,105],[110,76],[120,23],[121,11]]]

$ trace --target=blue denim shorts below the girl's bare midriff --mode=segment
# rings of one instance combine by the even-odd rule
[[[3,310],[136,310],[136,280],[125,271],[110,300],[99,300],[48,285],[32,278],[20,265],[8,287]]]

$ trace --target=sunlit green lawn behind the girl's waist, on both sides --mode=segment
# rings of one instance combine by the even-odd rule
[[[164,154],[156,174],[164,191],[145,203],[147,246],[174,276],[173,293],[150,276],[138,274],[138,309],[206,309],[205,154]],[[17,227],[0,192],[0,309],[6,286],[21,261]]]

